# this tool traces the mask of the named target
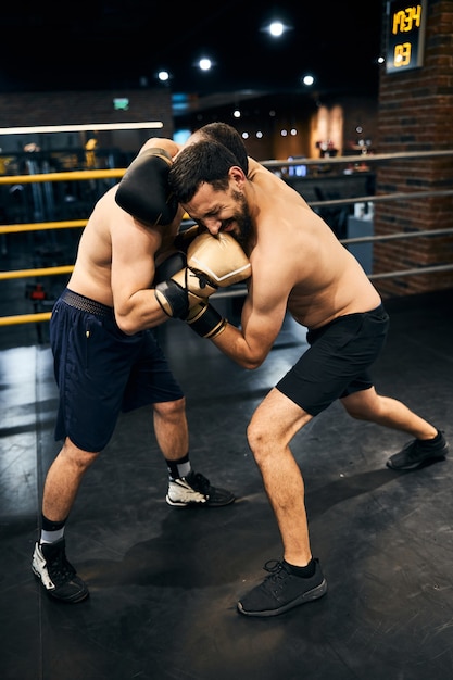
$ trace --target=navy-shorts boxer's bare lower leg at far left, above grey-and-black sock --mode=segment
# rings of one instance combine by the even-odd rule
[[[46,477],[42,514],[51,521],[63,521],[68,516],[87,469],[99,453],[78,449],[66,438]]]

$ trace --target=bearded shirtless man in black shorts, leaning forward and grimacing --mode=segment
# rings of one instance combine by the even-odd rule
[[[368,368],[383,347],[388,315],[358,262],[299,193],[252,159],[246,177],[229,150],[215,141],[184,149],[169,184],[192,219],[212,235],[232,234],[252,265],[241,328],[225,323],[212,336],[206,325],[203,335],[253,369],[269,353],[287,311],[307,328],[310,348],[259,405],[247,432],[284,557],[241,597],[238,609],[275,616],[327,590],[319,562],[312,557],[303,479],[290,450],[302,427],[340,399],[354,418],[414,438],[389,458],[389,467],[418,467],[443,457],[448,444],[433,425],[376,392]]]

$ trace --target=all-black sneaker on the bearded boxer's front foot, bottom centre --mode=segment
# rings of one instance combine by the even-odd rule
[[[239,612],[246,616],[277,616],[322,597],[327,592],[327,581],[318,559],[315,559],[315,565],[314,575],[305,579],[291,574],[285,562],[266,562],[264,568],[270,576],[266,576],[260,585],[238,602]]]

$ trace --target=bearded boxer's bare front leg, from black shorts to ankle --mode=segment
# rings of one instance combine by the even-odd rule
[[[304,567],[312,558],[304,483],[289,442],[312,419],[275,388],[256,408],[248,440],[263,477],[284,543],[284,557]]]

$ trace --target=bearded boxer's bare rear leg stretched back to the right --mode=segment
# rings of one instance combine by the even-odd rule
[[[433,439],[438,433],[433,425],[417,416],[402,402],[377,394],[374,387],[345,396],[341,403],[353,418],[383,425],[416,439]]]

